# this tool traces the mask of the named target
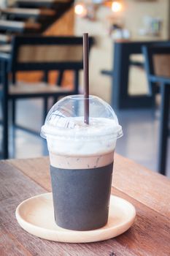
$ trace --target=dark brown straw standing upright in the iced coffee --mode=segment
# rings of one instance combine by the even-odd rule
[[[83,34],[84,122],[89,124],[88,33]]]

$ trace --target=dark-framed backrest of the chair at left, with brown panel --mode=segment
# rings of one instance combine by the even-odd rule
[[[89,50],[93,43],[89,38]],[[82,37],[14,37],[9,69],[16,71],[82,69]]]

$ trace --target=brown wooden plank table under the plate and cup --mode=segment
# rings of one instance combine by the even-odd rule
[[[50,190],[47,157],[0,161],[0,255],[170,255],[170,180],[165,176],[115,155],[112,194],[134,204],[136,221],[123,235],[92,244],[45,241],[18,225],[18,204]]]

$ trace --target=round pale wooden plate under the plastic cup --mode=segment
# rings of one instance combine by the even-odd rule
[[[109,220],[98,230],[66,230],[55,224],[52,193],[36,195],[16,209],[16,218],[24,230],[39,238],[67,243],[89,243],[119,236],[134,223],[134,206],[123,198],[111,195]]]

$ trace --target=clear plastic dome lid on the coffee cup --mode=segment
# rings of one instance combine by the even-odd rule
[[[89,96],[89,124],[84,122],[83,95],[64,97],[53,105],[42,126],[41,136],[65,136],[68,138],[93,138],[112,135],[120,138],[122,127],[111,106],[104,100]]]

